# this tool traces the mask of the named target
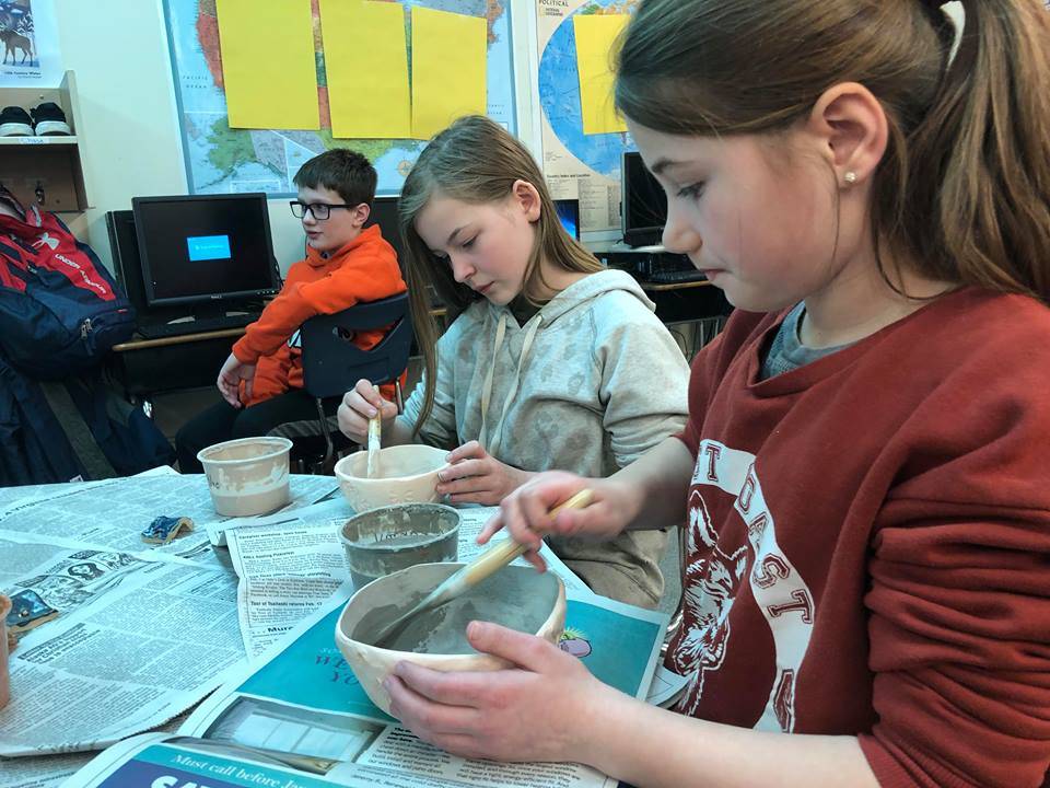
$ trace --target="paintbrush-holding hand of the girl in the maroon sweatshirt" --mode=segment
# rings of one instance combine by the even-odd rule
[[[551,509],[584,488],[594,493],[590,506],[563,509],[550,517]],[[544,536],[610,540],[634,519],[639,509],[634,493],[629,485],[614,479],[588,479],[561,471],[537,474],[503,499],[500,511],[478,534],[478,544],[487,543],[505,528],[511,538],[528,547],[525,557],[544,571],[547,566],[537,553]]]

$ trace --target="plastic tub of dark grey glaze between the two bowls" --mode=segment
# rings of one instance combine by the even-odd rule
[[[395,503],[350,518],[339,529],[355,589],[417,564],[454,561],[459,512],[441,503]]]

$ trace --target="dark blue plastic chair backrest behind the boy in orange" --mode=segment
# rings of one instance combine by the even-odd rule
[[[371,350],[352,343],[353,333],[392,326]],[[389,383],[408,367],[412,346],[408,293],[359,303],[303,323],[303,385],[314,397],[342,396],[362,378]]]

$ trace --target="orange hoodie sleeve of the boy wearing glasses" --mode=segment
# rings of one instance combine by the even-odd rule
[[[259,320],[245,329],[233,346],[233,355],[243,363],[256,363],[314,315],[332,314],[359,301],[375,301],[405,290],[397,255],[389,244],[381,239],[362,243],[347,253],[342,265],[315,281],[293,280],[289,271],[289,281]]]

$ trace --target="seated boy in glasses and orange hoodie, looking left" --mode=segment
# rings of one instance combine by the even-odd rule
[[[291,208],[303,221],[306,258],[292,265],[281,292],[233,346],[217,382],[223,401],[178,431],[183,473],[200,473],[197,452],[212,443],[315,418],[314,401],[303,391],[299,327],[316,314],[406,290],[397,254],[380,228],[362,229],[375,197],[376,174],[368,159],[342,148],[329,150],[303,164],[294,183],[299,199]],[[353,341],[371,348],[383,334],[360,332]]]

